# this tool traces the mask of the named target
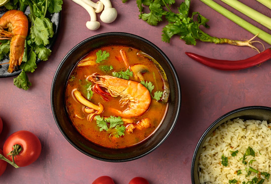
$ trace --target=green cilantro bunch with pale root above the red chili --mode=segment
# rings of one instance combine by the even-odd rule
[[[123,3],[128,0],[122,0]],[[170,6],[175,4],[175,0],[137,0],[137,7],[140,14],[139,19],[146,21],[149,25],[156,26],[159,22],[166,21],[168,24],[163,27],[162,41],[170,42],[170,38],[174,35],[180,36],[188,45],[196,45],[196,40],[203,42],[211,42],[215,44],[231,44],[237,46],[251,46],[249,41],[238,41],[227,38],[217,38],[210,36],[202,31],[199,26],[208,28],[207,18],[199,12],[192,12],[189,16],[190,0],[184,0],[175,13],[170,9]],[[144,9],[148,8],[149,13],[144,13]]]

